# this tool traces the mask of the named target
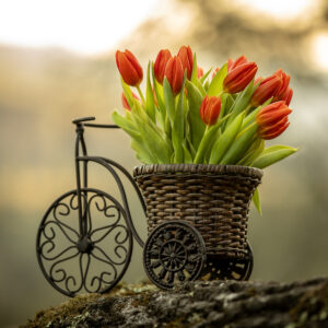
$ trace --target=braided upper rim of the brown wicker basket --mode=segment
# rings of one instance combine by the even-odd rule
[[[149,174],[218,174],[242,175],[245,177],[261,179],[263,172],[257,167],[243,165],[215,165],[215,164],[143,164],[133,168],[133,177]]]

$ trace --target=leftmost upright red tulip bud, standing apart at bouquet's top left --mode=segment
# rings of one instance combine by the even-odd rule
[[[134,55],[126,50],[116,51],[116,65],[124,81],[131,86],[138,86],[143,78],[142,68]]]

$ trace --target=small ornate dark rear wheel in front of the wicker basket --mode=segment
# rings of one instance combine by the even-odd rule
[[[143,249],[149,279],[162,289],[196,280],[206,262],[206,246],[200,233],[184,221],[169,221],[155,227]]]

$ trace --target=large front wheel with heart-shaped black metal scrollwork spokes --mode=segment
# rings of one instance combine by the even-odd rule
[[[102,293],[126,272],[132,242],[121,206],[101,190],[83,188],[80,195],[77,190],[62,195],[46,212],[37,234],[37,258],[59,292]]]

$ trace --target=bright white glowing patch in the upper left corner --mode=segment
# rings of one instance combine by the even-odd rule
[[[157,2],[1,1],[0,40],[30,47],[62,47],[82,54],[101,52],[129,35],[154,12]]]

